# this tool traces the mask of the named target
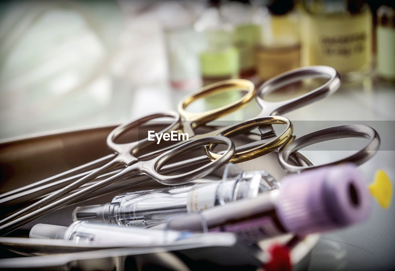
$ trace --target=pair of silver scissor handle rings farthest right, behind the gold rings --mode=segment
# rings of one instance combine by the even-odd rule
[[[262,108],[262,112],[257,117],[264,116],[266,114],[284,114],[295,108],[299,108],[303,105],[311,103],[312,101],[321,99],[322,96],[326,97],[339,88],[340,77],[335,69],[327,66],[314,66],[314,68],[314,70],[311,70],[310,67],[294,69],[273,77],[263,83],[256,92],[256,100]],[[305,95],[279,102],[269,102],[261,98],[265,97],[271,92],[275,92],[287,84],[298,82],[305,78],[322,77],[323,74],[330,75],[331,79],[320,88],[306,93]],[[268,129],[267,126],[263,126],[259,129],[261,132],[261,138],[273,137],[273,135],[270,133],[270,127]],[[227,136],[227,133],[222,133],[221,135]],[[361,150],[357,151],[357,153],[331,163],[321,165],[312,165],[311,163],[306,165],[295,165],[289,163],[288,161],[290,156],[295,153],[295,151],[300,150],[306,146],[340,138],[366,138],[368,139],[368,142]],[[362,124],[337,125],[310,133],[292,136],[292,138],[280,148],[280,151],[278,152],[278,159],[282,168],[284,168],[284,170],[286,170],[288,173],[293,174],[307,169],[346,162],[360,165],[369,160],[376,153],[379,147],[380,136],[372,127]],[[206,151],[207,156],[209,156],[211,159],[219,157],[218,154],[213,152],[211,145],[209,148],[206,148]]]

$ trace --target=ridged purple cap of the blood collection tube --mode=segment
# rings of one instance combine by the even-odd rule
[[[341,164],[282,179],[276,211],[286,230],[306,235],[366,221],[371,197],[361,171]]]

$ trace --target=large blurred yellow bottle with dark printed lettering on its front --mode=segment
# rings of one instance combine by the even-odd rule
[[[342,80],[371,71],[372,14],[363,0],[305,0],[302,64],[328,65]]]

